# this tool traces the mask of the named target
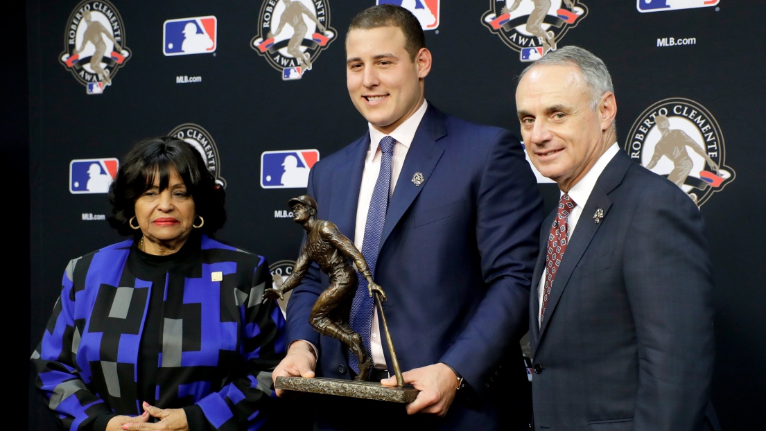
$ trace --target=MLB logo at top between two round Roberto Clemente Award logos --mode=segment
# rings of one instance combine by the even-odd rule
[[[218,45],[218,18],[214,16],[169,19],[162,30],[166,56],[207,54]]]

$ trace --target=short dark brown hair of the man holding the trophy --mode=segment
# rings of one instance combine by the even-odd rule
[[[349,31],[346,31],[345,38],[348,41],[352,30],[381,27],[401,28],[401,32],[404,33],[404,48],[410,54],[410,60],[414,61],[417,51],[426,47],[426,37],[423,34],[421,21],[417,21],[411,11],[397,5],[375,5],[359,12],[349,24]]]

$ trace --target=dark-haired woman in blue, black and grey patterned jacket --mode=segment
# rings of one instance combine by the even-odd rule
[[[132,238],[71,260],[31,361],[63,429],[259,429],[284,319],[262,256],[213,240],[224,190],[174,137],[139,142],[110,187]]]

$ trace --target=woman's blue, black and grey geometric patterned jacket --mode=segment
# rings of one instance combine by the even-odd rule
[[[267,422],[270,371],[284,352],[283,315],[276,302],[260,303],[271,286],[268,264],[204,235],[200,243],[165,286],[136,276],[128,264],[133,240],[70,261],[31,358],[35,383],[64,429],[142,413],[136,364],[146,331],[162,331],[157,407],[196,405],[208,429],[259,429]],[[165,289],[162,328],[145,325],[152,289]]]

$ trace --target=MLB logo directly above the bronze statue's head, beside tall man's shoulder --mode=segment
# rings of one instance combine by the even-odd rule
[[[318,160],[316,149],[265,151],[260,155],[260,187],[305,188],[309,169]]]

